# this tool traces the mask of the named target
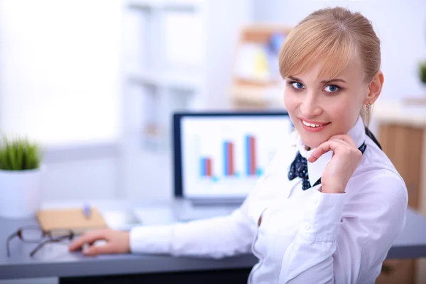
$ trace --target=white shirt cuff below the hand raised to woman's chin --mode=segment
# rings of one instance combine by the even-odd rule
[[[312,190],[298,232],[300,241],[335,241],[347,194],[323,193],[321,187]]]

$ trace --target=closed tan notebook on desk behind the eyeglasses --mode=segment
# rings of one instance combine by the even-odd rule
[[[82,234],[91,229],[108,227],[101,212],[95,207],[91,207],[89,217],[84,215],[82,209],[75,208],[40,210],[36,217],[45,231],[72,230],[75,234]]]

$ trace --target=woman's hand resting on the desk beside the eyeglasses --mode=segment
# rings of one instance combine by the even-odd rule
[[[95,241],[106,241],[107,244],[97,246]],[[86,247],[84,245],[87,244]],[[84,248],[83,248],[84,247]],[[85,256],[96,256],[98,254],[129,253],[130,236],[129,231],[115,231],[112,229],[99,229],[89,231],[75,239],[69,246],[70,251],[82,249]]]

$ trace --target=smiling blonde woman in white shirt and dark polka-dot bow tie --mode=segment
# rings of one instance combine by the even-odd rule
[[[294,143],[226,217],[130,233],[92,231],[70,250],[221,258],[252,251],[250,283],[374,283],[405,224],[403,179],[364,124],[383,85],[380,40],[346,9],[322,9],[280,51]],[[363,123],[364,120],[364,123]]]

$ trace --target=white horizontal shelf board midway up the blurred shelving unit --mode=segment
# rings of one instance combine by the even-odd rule
[[[170,72],[165,75],[159,75],[158,72],[133,72],[129,80],[137,84],[182,89],[198,89],[202,84],[200,75],[195,72]]]

